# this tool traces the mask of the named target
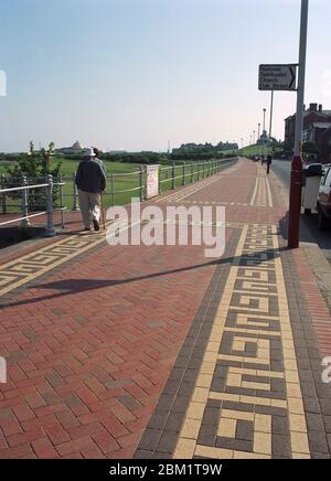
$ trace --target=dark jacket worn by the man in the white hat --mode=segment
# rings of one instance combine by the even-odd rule
[[[105,171],[97,159],[84,159],[78,165],[76,185],[79,191],[100,194],[106,189]]]

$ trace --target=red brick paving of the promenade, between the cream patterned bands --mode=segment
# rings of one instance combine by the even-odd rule
[[[186,200],[249,203],[255,173],[246,161]],[[277,224],[277,197],[229,205],[227,221]],[[330,313],[301,250],[295,259],[324,353]],[[130,458],[214,270],[202,247],[102,245],[3,307],[0,458]]]

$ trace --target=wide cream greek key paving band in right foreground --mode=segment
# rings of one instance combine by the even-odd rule
[[[276,234],[242,232],[174,459],[310,457]]]

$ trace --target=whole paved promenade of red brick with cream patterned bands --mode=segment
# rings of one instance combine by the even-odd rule
[[[224,205],[224,256],[103,231],[2,255],[0,458],[330,459],[331,318],[275,178],[239,160],[148,204]]]

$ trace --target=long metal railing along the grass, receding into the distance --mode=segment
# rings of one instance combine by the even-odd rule
[[[174,190],[179,185],[186,185],[189,183],[194,183],[196,181],[203,180],[207,177],[218,173],[222,168],[226,167],[228,163],[234,162],[237,158],[231,159],[217,159],[207,160],[202,162],[191,162],[191,163],[172,163],[172,165],[159,165],[159,195],[162,191]],[[127,203],[137,194],[137,196],[142,201],[147,197],[147,169],[146,165],[140,165],[139,170],[134,172],[125,173],[110,173],[107,175],[107,189],[105,192],[105,197],[109,202],[105,202],[107,205],[116,205],[118,197],[125,196],[120,204]],[[72,210],[74,212],[79,211],[78,206],[78,190],[75,183],[76,173],[74,172],[72,177],[60,177],[53,181],[52,175],[47,178],[26,178],[18,179],[17,182],[20,185],[9,189],[0,189],[0,212],[2,214],[10,213],[9,211],[13,207],[18,207],[18,204],[9,204],[8,197],[18,196],[20,197],[20,210],[21,216],[15,218],[10,218],[6,222],[0,223],[0,227],[15,224],[21,222],[23,227],[29,225],[29,220],[38,217],[41,215],[47,216],[46,224],[46,236],[54,235],[54,224],[53,224],[53,213],[61,212],[62,227],[64,227],[64,211]],[[1,186],[12,184],[13,180],[1,175],[0,178]],[[38,183],[42,181],[43,183]],[[55,207],[53,202],[54,188],[58,188],[58,202],[60,206]],[[29,214],[29,199],[33,197],[35,200],[35,191],[45,190],[45,203],[46,209],[42,212],[36,212],[34,214]],[[66,204],[66,205],[65,205]]]

